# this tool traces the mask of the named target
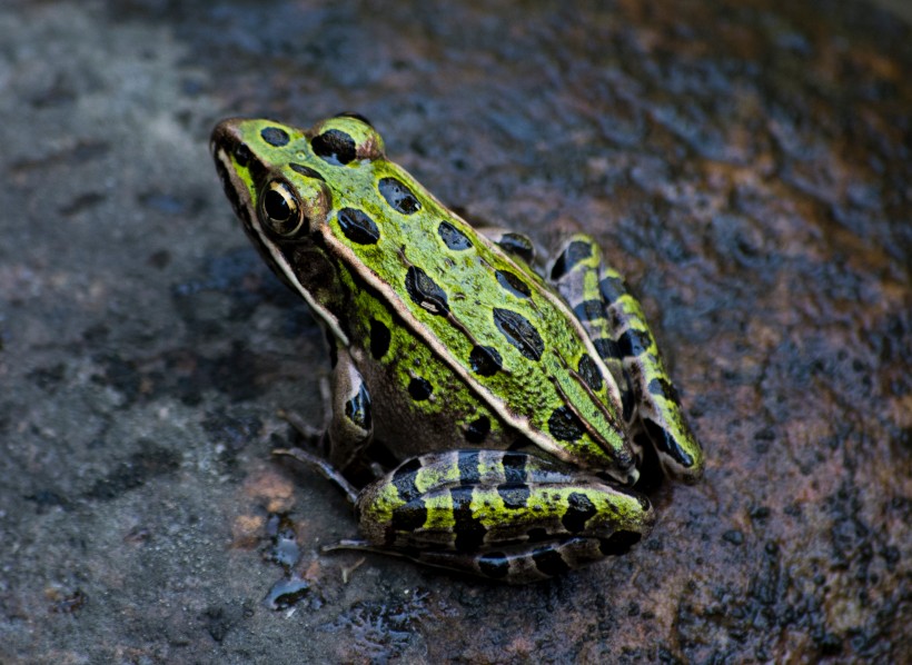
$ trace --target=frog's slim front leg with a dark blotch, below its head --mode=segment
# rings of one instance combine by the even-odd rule
[[[348,350],[335,348],[333,366],[333,417],[326,429],[326,456],[344,469],[369,443],[374,434],[370,394]]]

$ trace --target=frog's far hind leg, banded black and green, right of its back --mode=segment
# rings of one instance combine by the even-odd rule
[[[703,473],[703,450],[686,423],[643,308],[624,278],[604,262],[599,247],[585,235],[567,239],[549,277],[618,384],[632,434],[645,430],[667,475],[695,482]]]

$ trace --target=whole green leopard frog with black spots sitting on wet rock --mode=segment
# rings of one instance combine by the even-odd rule
[[[225,120],[212,152],[248,236],[327,331],[333,418],[315,464],[357,505],[366,539],[345,546],[531,582],[648,532],[648,500],[626,488],[635,435],[666,474],[700,477],[642,309],[588,237],[546,281],[528,239],[473,229],[357,116],[307,131]],[[403,464],[356,493],[333,469],[375,436]]]

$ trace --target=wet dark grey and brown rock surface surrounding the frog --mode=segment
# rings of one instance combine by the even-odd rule
[[[484,4],[3,3],[0,661],[908,657],[908,24]],[[323,418],[321,335],[206,143],[340,110],[473,218],[578,224],[643,297],[708,467],[631,555],[506,588],[319,554],[343,498],[269,450],[277,407]]]

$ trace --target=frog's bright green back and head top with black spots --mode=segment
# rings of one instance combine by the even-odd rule
[[[296,188],[319,181],[327,192],[311,236],[346,267],[353,294],[370,294],[355,298],[364,325],[384,309],[390,330],[403,327],[416,340],[415,359],[448,370],[425,376],[400,363],[390,377],[412,385],[420,375],[440,396],[456,380],[486,417],[555,456],[633,469],[617,388],[558,296],[388,161],[360,119],[337,117],[306,132],[250,122],[250,141],[281,143],[269,158]],[[399,394],[410,395],[408,387]]]

